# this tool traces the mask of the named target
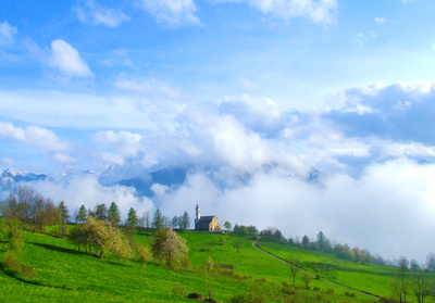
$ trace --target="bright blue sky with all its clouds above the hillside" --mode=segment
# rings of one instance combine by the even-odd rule
[[[0,168],[126,214],[220,220],[424,262],[435,228],[432,0],[0,5]],[[110,167],[110,169],[109,169]],[[152,197],[117,182],[183,168]],[[101,175],[65,175],[91,169]],[[101,178],[100,176],[103,176]],[[104,181],[102,181],[104,180]]]

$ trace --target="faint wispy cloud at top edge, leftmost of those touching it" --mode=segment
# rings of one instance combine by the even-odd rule
[[[108,27],[119,27],[123,22],[130,20],[123,12],[101,7],[94,0],[78,1],[75,11],[80,22],[101,24]]]

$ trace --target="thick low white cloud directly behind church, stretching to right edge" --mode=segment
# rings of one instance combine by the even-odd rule
[[[221,222],[279,228],[286,237],[315,237],[369,249],[384,257],[423,261],[433,251],[435,165],[408,160],[369,166],[361,178],[335,174],[310,184],[278,171],[257,173],[248,182],[221,189],[207,174],[159,198],[165,215],[203,214]],[[247,203],[249,201],[249,203]]]

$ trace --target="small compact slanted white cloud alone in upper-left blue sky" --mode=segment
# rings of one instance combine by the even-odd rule
[[[94,77],[78,51],[61,39],[51,42],[50,65],[67,77]]]

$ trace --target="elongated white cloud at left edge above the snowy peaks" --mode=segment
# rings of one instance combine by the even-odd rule
[[[69,144],[47,128],[28,126],[26,128],[14,127],[10,123],[0,122],[0,137],[16,142],[29,144],[41,152],[52,153],[53,159],[59,162],[72,162],[66,152]]]

